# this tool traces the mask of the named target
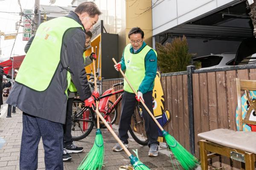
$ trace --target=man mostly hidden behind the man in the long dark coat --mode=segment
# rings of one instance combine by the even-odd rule
[[[85,49],[90,48],[90,39],[92,38],[93,34],[91,31],[87,31],[85,33],[86,35],[86,41],[85,41]],[[90,56],[84,57],[84,67],[91,64],[93,62],[93,59],[96,59],[96,54],[91,53]],[[72,157],[70,156],[69,153],[80,153],[84,150],[83,147],[78,147],[76,144],[73,143],[72,140],[72,135],[71,135],[71,129],[72,129],[72,113],[73,113],[73,101],[74,97],[76,96],[77,89],[75,85],[73,84],[73,81],[71,80],[70,86],[68,88],[67,94],[68,94],[68,99],[67,99],[67,114],[66,114],[66,123],[64,125],[64,143],[63,147],[64,150],[67,152],[63,153],[62,159],[63,161],[68,161],[71,160]]]

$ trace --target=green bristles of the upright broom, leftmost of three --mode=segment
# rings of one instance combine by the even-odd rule
[[[101,170],[104,161],[104,142],[100,129],[96,131],[95,142],[77,170]]]

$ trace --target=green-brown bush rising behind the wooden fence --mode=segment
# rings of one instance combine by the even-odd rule
[[[175,38],[172,43],[156,44],[157,63],[161,73],[186,71],[186,66],[191,65],[192,54],[189,54],[186,37]]]

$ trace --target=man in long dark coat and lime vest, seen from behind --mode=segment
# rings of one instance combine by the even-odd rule
[[[63,170],[63,124],[66,121],[70,77],[88,107],[99,93],[91,93],[84,69],[85,31],[101,12],[84,2],[64,17],[41,23],[30,43],[6,101],[23,111],[20,170],[36,170],[42,137],[48,170]]]

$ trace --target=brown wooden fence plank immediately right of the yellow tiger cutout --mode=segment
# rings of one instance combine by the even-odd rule
[[[166,102],[165,107],[170,111],[170,121],[168,123],[168,132],[173,136],[173,111],[172,111],[172,77],[166,77]]]

